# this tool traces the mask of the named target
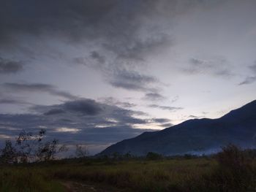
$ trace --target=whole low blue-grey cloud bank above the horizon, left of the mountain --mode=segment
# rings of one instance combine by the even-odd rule
[[[165,119],[149,122],[148,119],[136,118],[138,111],[93,99],[65,101],[48,106],[36,105],[31,107],[31,111],[33,114],[0,114],[0,134],[13,137],[23,129],[37,132],[45,128],[48,137],[56,137],[66,144],[110,145],[121,139],[135,137],[143,131],[151,131],[134,128],[135,125],[167,122]]]

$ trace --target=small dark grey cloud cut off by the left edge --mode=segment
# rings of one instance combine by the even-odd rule
[[[0,74],[16,73],[23,70],[23,62],[0,57]]]

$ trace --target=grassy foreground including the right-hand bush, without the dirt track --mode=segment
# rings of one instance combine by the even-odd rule
[[[256,191],[255,167],[236,150],[219,158],[50,161],[0,166],[0,191],[67,191],[65,181],[116,191]]]

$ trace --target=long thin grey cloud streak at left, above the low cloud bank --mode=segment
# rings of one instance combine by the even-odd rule
[[[61,96],[66,99],[78,99],[77,96],[73,96],[71,93],[66,91],[59,91],[53,85],[43,84],[43,83],[15,83],[15,82],[7,82],[3,84],[4,88],[7,90],[16,92],[45,92],[49,93],[53,96]]]

